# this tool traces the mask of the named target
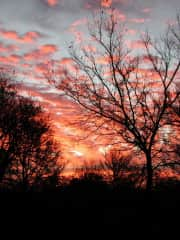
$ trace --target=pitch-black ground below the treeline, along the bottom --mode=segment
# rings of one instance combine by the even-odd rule
[[[112,234],[142,235],[145,239],[156,235],[173,236],[180,231],[180,192],[177,188],[154,191],[151,195],[130,189],[101,188],[1,192],[0,195],[3,225],[17,224],[19,230],[45,232],[51,229],[60,234],[64,228],[71,232],[70,229],[76,227],[79,234],[83,229],[90,234],[94,229],[105,233],[112,228]]]

